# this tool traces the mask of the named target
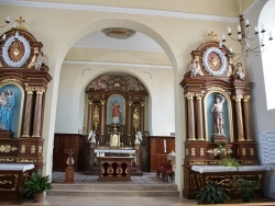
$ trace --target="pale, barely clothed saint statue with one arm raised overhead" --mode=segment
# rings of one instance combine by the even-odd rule
[[[217,135],[224,135],[223,134],[223,127],[224,127],[224,121],[223,121],[223,103],[224,103],[224,96],[221,94],[217,94],[215,98],[215,104],[211,110],[213,113],[213,128],[215,134]]]

